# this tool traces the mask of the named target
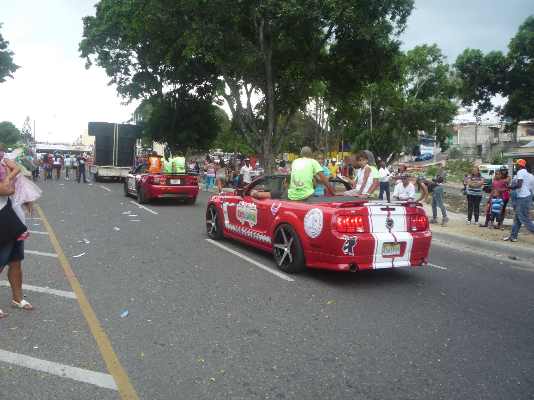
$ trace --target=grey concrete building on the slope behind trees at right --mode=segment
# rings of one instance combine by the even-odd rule
[[[490,159],[503,153],[512,153],[534,139],[534,121],[524,121],[513,132],[504,132],[509,122],[484,121],[478,125],[467,122],[447,127],[452,133],[449,140],[451,158]]]

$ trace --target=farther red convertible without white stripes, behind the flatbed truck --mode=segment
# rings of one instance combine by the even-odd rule
[[[197,176],[187,172],[146,172],[148,164],[141,164],[131,171],[124,181],[124,196],[136,195],[140,204],[152,198],[174,197],[194,204],[199,194]]]

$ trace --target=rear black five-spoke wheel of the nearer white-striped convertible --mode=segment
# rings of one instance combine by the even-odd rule
[[[306,267],[299,235],[287,223],[282,223],[274,232],[273,255],[278,268],[288,274],[303,271]]]

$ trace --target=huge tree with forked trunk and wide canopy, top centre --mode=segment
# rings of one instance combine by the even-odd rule
[[[273,172],[317,83],[376,74],[395,53],[391,37],[412,8],[413,0],[101,0],[96,16],[84,19],[80,47],[89,61],[96,54],[127,96],[146,92],[136,84],[147,82],[145,74],[160,82],[172,71],[180,85],[199,74]],[[147,48],[153,57],[145,57]]]

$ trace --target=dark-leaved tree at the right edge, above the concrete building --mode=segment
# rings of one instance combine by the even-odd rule
[[[522,119],[534,118],[534,17],[528,17],[508,44],[508,53],[488,54],[466,49],[456,59],[454,67],[461,79],[462,106],[480,117],[496,109],[502,118],[510,117],[508,130]],[[500,94],[507,101],[494,107],[492,98]]]

